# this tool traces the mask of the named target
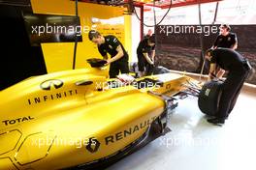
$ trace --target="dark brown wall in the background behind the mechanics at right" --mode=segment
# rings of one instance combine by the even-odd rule
[[[214,27],[214,25],[203,26]],[[171,70],[199,73],[202,68],[200,34],[186,33],[167,36],[167,34],[163,34],[163,31],[160,33],[164,27],[175,28],[175,25],[157,27],[157,64]],[[194,25],[194,27],[197,26]],[[219,25],[216,25],[216,27],[218,28]],[[238,36],[239,45],[237,50],[250,61],[251,66],[256,71],[256,25],[231,25],[231,27],[232,32],[235,32]],[[217,34],[203,35],[204,51],[211,47]],[[204,73],[208,73],[208,63],[206,66]],[[247,82],[256,84],[256,74],[252,73],[247,78]]]

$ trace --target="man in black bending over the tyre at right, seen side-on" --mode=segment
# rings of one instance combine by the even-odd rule
[[[216,77],[217,67],[229,71],[226,80],[222,84],[222,95],[219,100],[218,111],[215,114],[216,117],[208,119],[208,123],[222,125],[236,104],[240,89],[251,67],[239,52],[229,48],[208,49],[206,58],[210,63],[208,80]]]

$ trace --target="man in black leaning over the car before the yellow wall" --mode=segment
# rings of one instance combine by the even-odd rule
[[[91,30],[88,38],[91,42],[98,45],[99,52],[107,60],[106,65],[111,65],[109,72],[110,78],[115,78],[119,74],[119,71],[121,73],[129,73],[128,54],[122,43],[116,37],[112,35],[102,36],[99,32]],[[111,55],[110,59],[108,59],[107,53]]]

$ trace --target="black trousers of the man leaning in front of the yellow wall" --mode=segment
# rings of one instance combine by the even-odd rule
[[[119,71],[121,71],[121,73],[129,73],[129,66],[127,61],[118,61],[111,63],[109,71],[110,78],[116,78],[116,75],[119,74]]]

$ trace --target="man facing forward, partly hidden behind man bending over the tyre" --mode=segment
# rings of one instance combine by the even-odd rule
[[[219,27],[219,35],[217,36],[212,48],[223,47],[223,48],[238,48],[238,38],[235,33],[230,32],[231,27],[228,24],[221,24]],[[216,76],[221,78],[225,71],[220,69]]]

